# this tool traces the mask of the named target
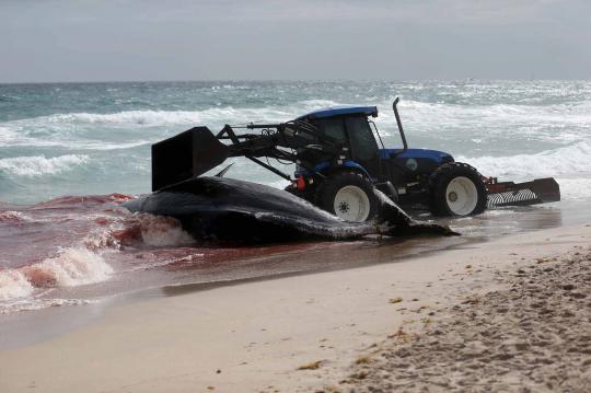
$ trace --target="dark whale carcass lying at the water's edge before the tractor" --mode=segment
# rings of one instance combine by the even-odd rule
[[[344,221],[285,190],[225,177],[196,177],[124,204],[134,212],[170,216],[198,241],[276,243],[310,239],[352,240],[456,234],[447,227],[419,223],[378,193],[374,222]]]

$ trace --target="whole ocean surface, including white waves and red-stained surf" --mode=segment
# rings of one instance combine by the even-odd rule
[[[313,244],[200,248],[174,221],[134,216],[119,204],[150,190],[150,145],[197,125],[216,131],[376,105],[384,143],[401,146],[395,96],[412,147],[450,152],[499,180],[554,176],[560,184],[558,204],[494,210],[453,227],[482,236],[591,216],[591,81],[0,84],[0,312],[247,277],[263,274],[255,262],[269,255],[316,253]],[[285,185],[235,162],[230,177]],[[311,265],[292,261],[277,271]]]

